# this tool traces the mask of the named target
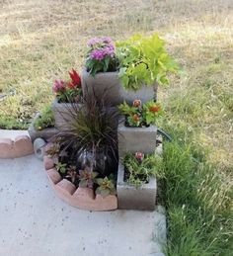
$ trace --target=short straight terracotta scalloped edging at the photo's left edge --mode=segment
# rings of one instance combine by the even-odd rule
[[[0,158],[17,158],[33,153],[33,143],[28,135],[18,135],[14,140],[0,138]]]

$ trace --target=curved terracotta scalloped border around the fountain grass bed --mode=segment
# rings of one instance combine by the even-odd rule
[[[54,166],[54,160],[43,156],[43,166],[56,195],[72,207],[88,211],[112,211],[117,209],[116,196],[103,198],[92,189],[78,188],[68,180],[62,179]]]

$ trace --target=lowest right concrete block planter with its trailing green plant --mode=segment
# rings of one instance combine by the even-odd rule
[[[161,164],[162,158],[156,154],[125,154],[119,161],[117,173],[119,209],[154,210],[156,177],[163,177]]]

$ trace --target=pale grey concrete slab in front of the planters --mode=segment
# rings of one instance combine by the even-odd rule
[[[0,159],[0,256],[161,255],[162,213],[90,213],[50,188],[35,156]]]

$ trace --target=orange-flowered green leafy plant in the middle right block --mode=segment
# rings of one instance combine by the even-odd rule
[[[160,104],[149,101],[141,104],[140,100],[134,100],[132,106],[125,102],[118,106],[121,114],[125,115],[125,125],[128,127],[143,127],[155,125],[162,114]]]

